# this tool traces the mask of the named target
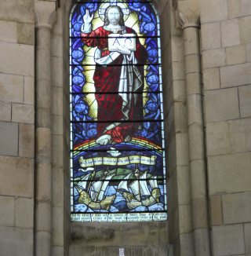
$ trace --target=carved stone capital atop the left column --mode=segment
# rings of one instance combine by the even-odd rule
[[[53,26],[56,17],[56,1],[35,1],[35,26],[49,27]]]

